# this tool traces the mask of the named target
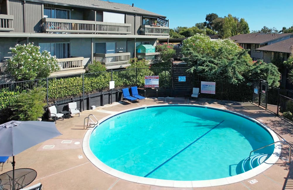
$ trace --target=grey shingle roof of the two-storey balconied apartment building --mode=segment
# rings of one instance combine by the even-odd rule
[[[114,12],[123,12],[123,13],[132,13],[132,14],[140,14],[140,15],[148,15],[148,16],[156,16],[161,18],[166,18],[166,16],[159,15],[157,13],[153,13],[132,5],[114,3],[110,1],[100,1],[100,0],[28,0],[33,2],[41,2],[47,4],[56,4],[63,6],[72,6],[72,7],[83,7],[83,8],[92,8],[95,10],[102,11],[114,11]]]

